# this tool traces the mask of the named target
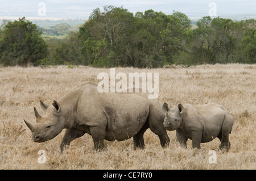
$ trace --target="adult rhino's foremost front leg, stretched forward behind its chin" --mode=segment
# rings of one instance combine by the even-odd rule
[[[85,133],[86,132],[84,131],[78,131],[76,129],[66,129],[64,137],[60,144],[60,153],[63,153],[63,150],[66,145],[69,145],[71,141],[83,136]]]

